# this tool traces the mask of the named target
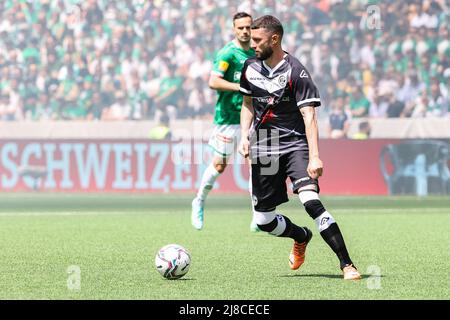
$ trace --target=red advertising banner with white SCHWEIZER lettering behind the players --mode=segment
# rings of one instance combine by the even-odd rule
[[[448,192],[444,141],[324,139],[320,154],[323,194]],[[201,142],[0,140],[0,191],[193,193],[210,159]],[[214,192],[248,192],[247,165],[230,162]]]

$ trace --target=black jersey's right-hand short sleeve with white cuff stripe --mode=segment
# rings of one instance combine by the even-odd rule
[[[295,81],[294,90],[297,107],[320,106],[319,90],[311,79],[309,72],[302,68],[292,78]]]

